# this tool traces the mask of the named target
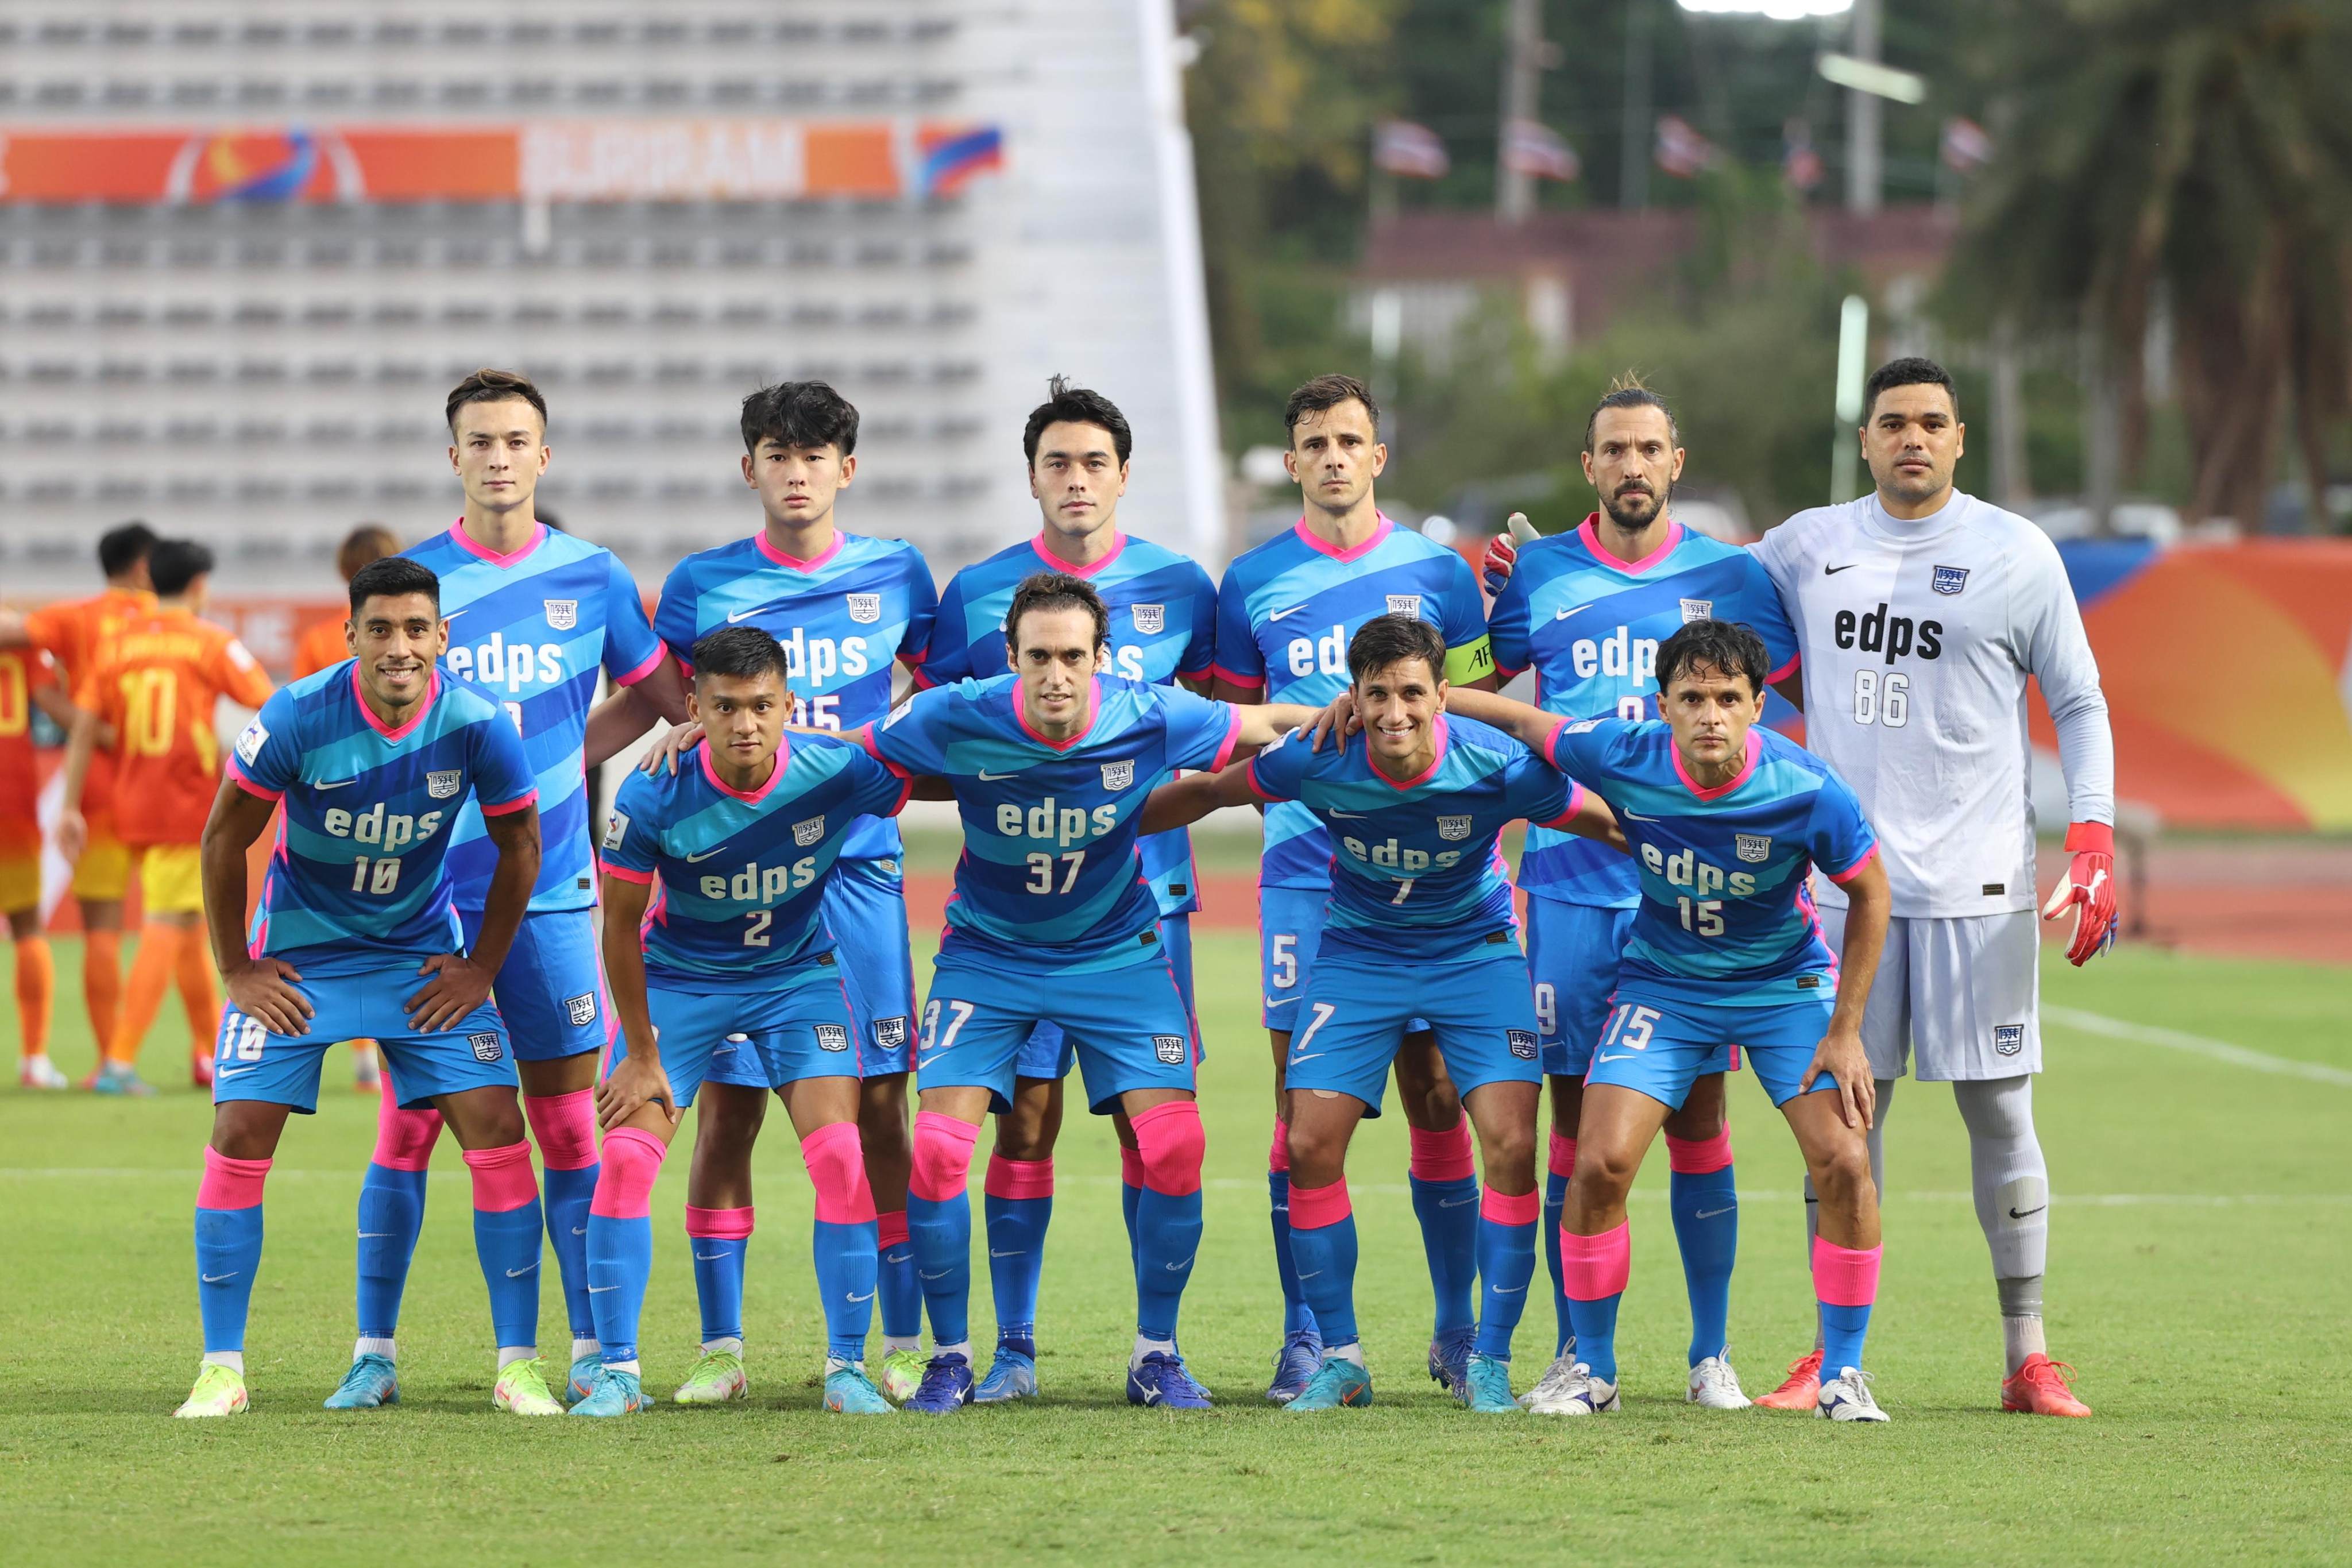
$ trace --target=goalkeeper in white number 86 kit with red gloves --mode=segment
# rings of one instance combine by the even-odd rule
[[[2074,910],[2077,966],[2114,940],[2114,738],[2058,548],[2025,517],[1952,489],[1964,437],[1940,364],[1882,364],[1858,433],[1875,491],[1797,512],[1757,559],[1804,649],[1806,745],[1853,785],[1893,886],[1886,961],[1863,1016],[1882,1107],[1872,1166],[1884,1173],[1884,1107],[1905,1067],[1950,1081],[2002,1309],[2002,1408],[2089,1415],[2042,1331],[2051,1190],[2032,1114],[2042,983],[2027,677],[2058,731],[2072,816],[2072,865],[2044,919]],[[1835,943],[1846,922],[1837,886],[1820,891],[1820,919]],[[1806,1199],[1811,1229],[1811,1187]],[[1804,1401],[1820,1354],[1757,1403]]]

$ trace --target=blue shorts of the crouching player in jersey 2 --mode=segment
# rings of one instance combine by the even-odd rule
[[[861,1077],[849,992],[840,966],[826,959],[797,966],[776,990],[668,990],[647,980],[644,1011],[680,1110],[694,1105],[703,1084],[783,1088]],[[614,1051],[607,1077],[619,1065]]]

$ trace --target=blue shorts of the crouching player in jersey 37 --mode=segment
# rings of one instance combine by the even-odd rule
[[[974,1084],[990,1091],[990,1110],[1011,1110],[1021,1051],[1040,1023],[1061,1025],[1098,1117],[1131,1088],[1195,1086],[1192,1018],[1169,954],[1155,945],[1143,964],[1089,971],[1004,969],[943,952],[922,1009],[917,1088]]]

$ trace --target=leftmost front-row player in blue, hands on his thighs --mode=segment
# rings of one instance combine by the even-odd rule
[[[562,1415],[539,1361],[539,1182],[492,985],[539,882],[539,780],[499,696],[437,663],[440,583],[412,559],[350,578],[353,658],[280,686],[245,733],[205,823],[205,910],[228,987],[212,1145],[195,1197],[205,1363],[179,1415],[245,1408],[245,1319],[261,1267],[261,1187],[287,1112],[318,1107],[327,1046],[365,1034],[397,1088],[449,1121],[473,1173],[473,1239],[499,1340],[492,1396]],[[285,806],[252,933],[245,853]],[[482,914],[449,903],[468,809],[492,846]],[[390,1345],[362,1340],[376,1399]]]

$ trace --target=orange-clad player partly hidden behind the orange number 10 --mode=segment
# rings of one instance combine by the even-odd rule
[[[0,611],[0,646],[33,644],[64,665],[66,691],[78,691],[122,621],[155,604],[148,590],[146,557],[155,531],[143,522],[125,522],[99,536],[99,571],[106,592],[94,599],[47,604],[31,614]],[[89,1032],[106,1051],[122,1001],[122,891],[129,884],[129,853],[115,837],[115,736],[99,731],[99,750],[89,762],[82,816],[89,844],[73,867],[73,898],[82,907],[82,1004],[89,1009]],[[71,858],[71,856],[68,856]]]

